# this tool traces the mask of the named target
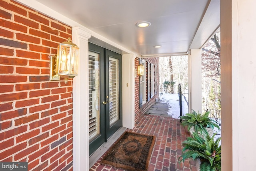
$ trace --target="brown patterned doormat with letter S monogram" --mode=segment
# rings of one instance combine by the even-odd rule
[[[125,132],[101,163],[128,171],[147,171],[155,137]]]

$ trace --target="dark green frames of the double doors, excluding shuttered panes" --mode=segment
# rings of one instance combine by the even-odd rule
[[[89,143],[89,155],[96,151],[107,139],[122,127],[122,55],[89,42],[89,51],[100,55],[100,134]],[[110,127],[109,118],[109,58],[119,61],[119,119]]]

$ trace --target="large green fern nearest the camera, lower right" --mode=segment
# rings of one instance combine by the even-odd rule
[[[198,158],[201,161],[200,171],[221,171],[221,145],[219,145],[221,138],[214,141],[216,133],[213,136],[204,131],[201,133],[203,136],[194,132],[193,137],[187,137],[182,142],[184,148],[179,162],[184,162],[188,158]]]

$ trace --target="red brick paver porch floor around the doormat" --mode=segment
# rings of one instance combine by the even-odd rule
[[[142,115],[135,123],[134,129],[127,129],[127,131],[156,136],[148,171],[196,171],[193,160],[178,162],[182,153],[182,141],[189,136],[180,126],[179,119],[159,115]],[[100,161],[104,155],[90,168],[90,171],[124,171],[101,165]]]

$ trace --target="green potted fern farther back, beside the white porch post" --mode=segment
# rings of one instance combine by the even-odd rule
[[[194,127],[196,132],[201,130],[206,131],[205,128],[207,127],[211,127],[212,129],[217,127],[220,129],[218,123],[209,118],[209,114],[209,111],[206,111],[204,114],[202,114],[199,112],[196,113],[196,111],[193,110],[192,113],[187,113],[186,115],[180,117],[180,119],[182,119],[181,125],[188,126],[188,131]]]

